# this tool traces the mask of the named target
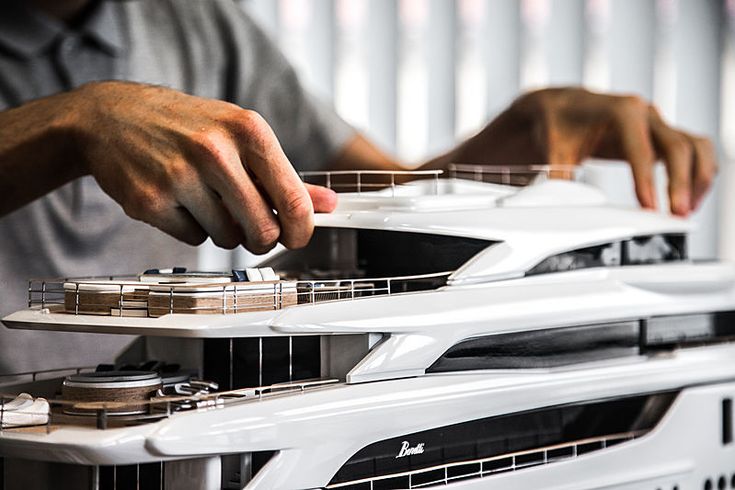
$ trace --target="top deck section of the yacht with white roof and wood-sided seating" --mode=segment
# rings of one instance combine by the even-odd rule
[[[599,190],[549,179],[544,169],[534,168],[533,184],[523,187],[505,173],[504,184],[437,172],[318,174],[351,192],[340,195],[334,213],[317,215],[309,246],[247,271],[257,277],[241,271],[32,281],[29,310],[4,322],[180,336],[228,336],[247,324],[252,335],[268,336],[276,335],[272,326],[284,308],[686,261],[685,221],[607,205]]]

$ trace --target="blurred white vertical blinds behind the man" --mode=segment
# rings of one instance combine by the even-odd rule
[[[735,259],[735,0],[241,0],[304,82],[408,163],[450,148],[522,91],[583,85],[652,100],[712,138],[721,171],[693,216],[696,258]],[[665,173],[659,169],[661,195]],[[635,202],[627,166],[585,178]],[[205,269],[246,252],[207,244]]]

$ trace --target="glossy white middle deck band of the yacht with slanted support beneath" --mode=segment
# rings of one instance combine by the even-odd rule
[[[151,319],[25,310],[5,322],[24,328],[178,337],[388,334],[348,374],[348,382],[358,383],[421,375],[452,345],[478,335],[727,310],[733,305],[735,266],[682,263],[543,274],[237,315]]]

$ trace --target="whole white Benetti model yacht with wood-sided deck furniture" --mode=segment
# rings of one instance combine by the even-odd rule
[[[31,281],[10,328],[173,348],[2,387],[4,490],[735,485],[733,266],[568,170],[454,170],[309,174],[337,210],[257,268]]]

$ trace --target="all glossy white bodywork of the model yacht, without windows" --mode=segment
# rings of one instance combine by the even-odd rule
[[[317,216],[317,225],[499,242],[437,290],[227,315],[118,318],[25,310],[3,320],[13,328],[193,338],[382,336],[345,383],[127,428],[3,431],[0,455],[84,465],[194,459],[208,462],[198,482],[208,488],[216,456],[277,451],[249,490],[319,488],[351,455],[379,440],[560,404],[683,390],[661,424],[641,439],[447,488],[690,490],[702,488],[705,475],[735,472],[735,446],[722,446],[717,412],[722,398],[735,398],[735,344],[554,369],[426,374],[447,349],[471,337],[735,310],[735,266],[684,262],[524,277],[556,253],[686,233],[689,225],[606,206],[597,191],[570,182],[518,191],[444,181],[437,195],[430,185],[343,197],[335,213]]]

